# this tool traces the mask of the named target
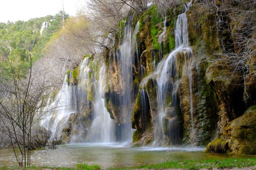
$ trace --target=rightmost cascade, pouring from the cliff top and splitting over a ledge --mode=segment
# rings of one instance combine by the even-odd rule
[[[178,15],[176,21],[176,28],[175,28],[175,44],[176,48],[172,51],[169,56],[166,58],[164,62],[164,66],[161,69],[160,77],[156,80],[158,85],[158,100],[159,100],[159,114],[156,121],[159,124],[159,128],[156,128],[155,132],[155,140],[162,140],[165,138],[164,134],[164,117],[166,116],[165,104],[166,104],[166,97],[168,94],[168,88],[172,90],[173,88],[173,81],[171,80],[174,66],[177,66],[177,55],[183,55],[187,57],[185,61],[188,61],[188,78],[189,78],[189,86],[190,86],[190,111],[191,111],[191,124],[193,127],[193,103],[192,103],[192,71],[191,71],[191,62],[190,58],[193,55],[191,48],[188,45],[188,31],[187,31],[187,16],[186,12],[188,11],[189,7],[191,6],[191,2],[185,6],[185,12]],[[183,53],[183,54],[181,54]],[[170,81],[171,80],[171,81]],[[171,91],[170,90],[170,91]],[[165,139],[163,139],[165,141]],[[165,143],[164,143],[165,144]]]

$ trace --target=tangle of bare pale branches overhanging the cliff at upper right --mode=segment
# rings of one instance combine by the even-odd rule
[[[222,51],[214,61],[223,61],[243,75],[245,100],[248,84],[256,78],[256,1],[255,0],[198,0],[202,10],[215,15]]]

